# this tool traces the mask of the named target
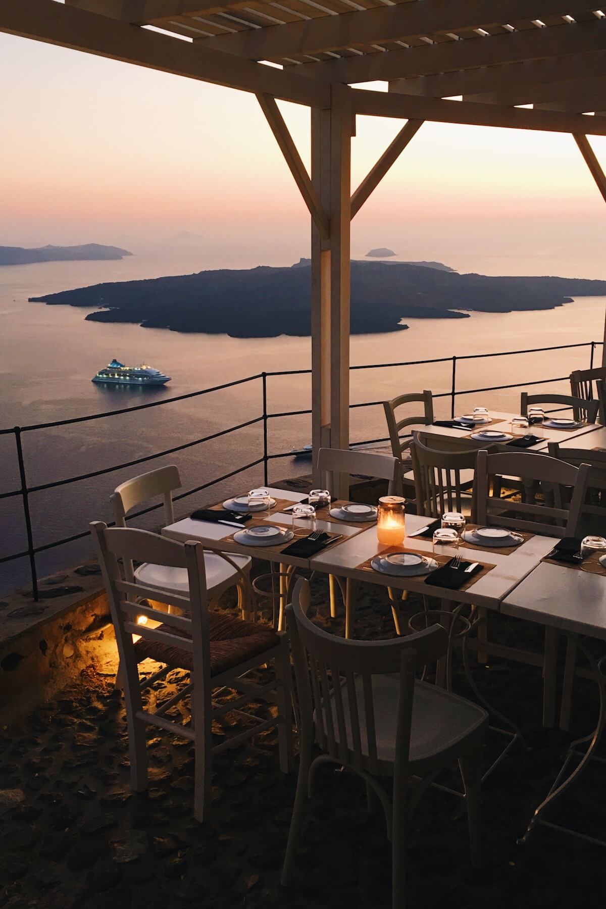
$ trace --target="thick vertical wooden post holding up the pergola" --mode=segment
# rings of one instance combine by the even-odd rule
[[[332,89],[332,106],[312,110],[312,183],[330,235],[312,224],[313,452],[349,448],[350,226],[353,113],[346,86]],[[314,483],[323,484],[313,464]],[[349,495],[336,475],[333,494]]]

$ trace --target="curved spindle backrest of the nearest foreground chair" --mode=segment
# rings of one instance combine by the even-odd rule
[[[302,578],[295,584],[293,603],[286,610],[297,687],[302,684],[304,692],[303,698],[300,695],[302,747],[311,746],[314,735],[317,744],[336,761],[376,773],[379,761],[373,676],[397,674],[405,678],[397,707],[400,726],[401,716],[407,722],[412,713],[415,669],[443,656],[448,636],[440,625],[433,625],[396,640],[345,640],[313,624],[307,617],[308,607],[309,584]],[[312,690],[313,702],[308,697]],[[403,732],[396,763],[407,764],[409,743],[410,728]]]

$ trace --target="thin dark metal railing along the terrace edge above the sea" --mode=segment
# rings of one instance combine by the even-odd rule
[[[590,348],[590,362],[589,368],[591,369],[594,365],[595,351],[597,347],[602,345],[601,341],[586,341],[580,342],[578,344],[569,344],[569,345],[553,345],[549,347],[532,347],[524,350],[511,350],[511,351],[499,351],[490,354],[466,354],[466,355],[452,355],[447,357],[433,357],[430,359],[424,360],[406,360],[398,361],[392,363],[373,363],[373,364],[363,364],[350,366],[351,372],[356,372],[359,370],[366,369],[387,369],[392,367],[404,367],[404,366],[421,366],[421,365],[438,365],[438,364],[451,364],[451,387],[448,391],[440,392],[433,395],[434,399],[439,398],[449,398],[450,399],[450,410],[451,416],[455,415],[456,399],[460,395],[476,395],[482,394],[485,392],[492,391],[503,391],[512,388],[524,388],[535,385],[550,385],[556,382],[564,382],[569,376],[557,376],[555,378],[549,379],[540,379],[540,380],[531,380],[530,382],[514,382],[507,385],[487,385],[480,388],[459,388],[457,386],[457,365],[466,360],[479,360],[489,357],[499,357],[499,356],[512,356],[512,355],[526,355],[526,354],[540,354],[547,353],[550,351],[563,351],[571,350],[573,348]],[[276,379],[281,376],[293,376],[293,375],[311,375],[311,369],[293,369],[293,370],[277,370],[274,372],[263,372],[257,373],[255,375],[248,375],[241,379],[235,379],[233,382],[226,382],[222,385],[214,385],[209,388],[203,388],[196,392],[190,392],[185,395],[177,395],[171,398],[165,398],[163,400],[152,401],[147,404],[134,405],[132,407],[124,407],[118,410],[105,411],[102,414],[91,414],[85,416],[76,416],[65,420],[55,420],[49,423],[37,423],[32,425],[25,426],[13,426],[11,428],[0,429],[0,436],[13,435],[15,439],[15,457],[18,468],[19,483],[20,486],[18,489],[10,490],[9,492],[3,492],[0,494],[0,500],[11,499],[20,497],[23,506],[23,516],[25,522],[25,536],[27,541],[27,546],[24,550],[17,553],[12,553],[9,555],[3,555],[0,557],[0,564],[5,564],[7,562],[14,562],[17,559],[28,559],[29,560],[29,569],[32,579],[32,592],[35,601],[39,599],[39,588],[38,588],[38,573],[36,566],[36,555],[47,552],[50,549],[55,549],[58,546],[63,546],[66,544],[74,543],[77,540],[82,540],[86,536],[90,535],[90,531],[83,531],[77,534],[70,534],[64,536],[60,539],[53,540],[50,543],[45,543],[41,545],[35,544],[35,534],[34,527],[32,523],[32,515],[30,511],[30,495],[40,493],[49,489],[55,489],[61,486],[66,486],[70,484],[81,483],[84,480],[89,480],[93,477],[103,476],[104,474],[112,474],[119,470],[124,470],[127,467],[134,467],[137,464],[145,464],[149,461],[154,461],[157,458],[166,456],[167,454],[175,454],[176,452],[181,452],[189,448],[193,448],[195,445],[204,445],[204,443],[211,442],[215,439],[233,435],[243,429],[249,428],[253,425],[262,424],[263,425],[263,445],[259,456],[253,458],[247,464],[235,467],[233,470],[228,473],[216,476],[211,480],[208,480],[204,484],[199,484],[192,489],[188,489],[184,493],[180,493],[174,496],[174,501],[179,501],[181,499],[187,498],[190,495],[202,492],[204,489],[208,489],[211,486],[223,483],[225,480],[231,479],[233,476],[243,474],[245,471],[253,469],[263,464],[263,483],[268,484],[269,477],[269,463],[270,461],[277,460],[280,458],[292,457],[293,451],[288,452],[278,452],[278,453],[269,453],[269,444],[268,444],[268,427],[270,420],[283,419],[286,417],[293,416],[305,416],[311,415],[312,410],[310,408],[301,409],[301,410],[292,410],[292,411],[268,411],[268,380]],[[108,417],[114,417],[124,414],[133,414],[137,411],[147,410],[152,407],[165,407],[167,405],[175,404],[180,401],[185,401],[191,398],[200,397],[202,395],[210,395],[214,392],[224,391],[228,388],[233,388],[236,385],[248,385],[251,383],[260,383],[261,385],[261,414],[253,417],[252,419],[246,420],[242,423],[230,426],[226,429],[219,430],[210,435],[204,435],[200,438],[196,438],[192,441],[185,442],[181,445],[174,445],[170,448],[164,448],[162,451],[155,452],[154,454],[145,454],[142,457],[134,458],[133,460],[126,461],[122,464],[112,464],[107,467],[102,467],[98,470],[89,471],[85,474],[75,474],[74,476],[65,477],[60,480],[54,480],[48,483],[34,484],[29,485],[27,483],[27,474],[25,469],[25,456],[23,451],[23,435],[25,433],[38,433],[47,429],[55,429],[59,426],[75,425],[80,423],[87,423],[94,420],[103,420]],[[350,405],[351,410],[356,410],[363,407],[378,407],[382,406],[381,401],[362,401],[356,402]],[[380,443],[388,442],[389,436],[384,436],[382,438],[375,439],[364,439],[358,442],[353,442],[353,447],[361,445],[377,445]],[[135,517],[140,517],[143,514],[149,514],[154,512],[156,509],[161,508],[162,503],[150,505],[147,508],[144,508],[140,511],[135,512],[134,514],[128,515],[128,520]]]

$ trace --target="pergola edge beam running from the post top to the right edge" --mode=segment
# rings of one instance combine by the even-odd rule
[[[523,107],[478,105],[471,101],[418,98],[396,92],[350,89],[353,110],[367,116],[429,120],[474,126],[501,126],[506,129],[532,129],[548,133],[606,135],[606,117],[531,110]]]

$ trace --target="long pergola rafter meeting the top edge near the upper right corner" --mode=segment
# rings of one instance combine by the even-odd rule
[[[234,35],[202,38],[204,45],[248,57],[273,60],[317,54],[352,45],[402,41],[418,35],[445,34],[458,29],[486,28],[516,19],[575,15],[587,11],[587,0],[432,0],[401,3],[307,22],[244,29]],[[531,14],[531,15],[530,15]]]

